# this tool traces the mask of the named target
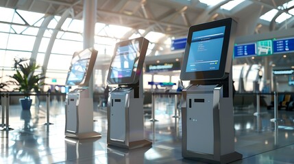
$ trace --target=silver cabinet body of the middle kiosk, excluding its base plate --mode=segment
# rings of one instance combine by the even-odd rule
[[[144,140],[143,96],[134,88],[119,87],[110,93],[110,139],[130,143]]]

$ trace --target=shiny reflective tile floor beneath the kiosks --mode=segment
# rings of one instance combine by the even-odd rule
[[[106,111],[95,104],[95,131],[101,138],[74,140],[64,137],[64,103],[50,104],[50,125],[45,102],[30,111],[10,105],[11,131],[0,131],[0,163],[200,163],[182,158],[181,118],[173,118],[171,98],[156,98],[156,120],[150,122],[150,110],[145,114],[145,137],[151,148],[125,150],[106,143]],[[234,163],[294,163],[294,111],[279,111],[278,124],[270,122],[273,110],[255,108],[234,109],[235,149],[243,154]],[[2,119],[2,118],[1,118]]]

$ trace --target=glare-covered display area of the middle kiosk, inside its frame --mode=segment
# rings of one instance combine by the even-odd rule
[[[110,78],[131,77],[139,44],[119,46],[112,61]]]

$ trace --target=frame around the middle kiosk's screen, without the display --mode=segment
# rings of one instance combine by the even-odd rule
[[[121,46],[128,46],[130,44],[134,44],[135,42],[138,42],[139,46],[138,46],[138,56],[134,59],[134,66],[132,68],[132,74],[130,77],[121,77],[121,78],[112,78],[111,74],[112,74],[112,62],[114,61],[114,58],[117,54],[117,50],[119,49],[119,47]],[[147,47],[149,44],[149,40],[140,37],[140,38],[135,38],[132,40],[125,40],[122,42],[118,42],[115,45],[114,48],[114,54],[112,55],[112,59],[110,61],[110,66],[109,66],[109,70],[108,70],[108,84],[121,84],[121,85],[125,85],[125,84],[135,84],[138,83],[138,80],[140,79],[140,74],[143,72],[143,63],[145,60],[145,56],[147,53]],[[137,64],[136,64],[137,63]]]

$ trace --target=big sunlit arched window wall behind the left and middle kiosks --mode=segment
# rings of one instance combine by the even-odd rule
[[[56,29],[56,25],[62,20],[60,16],[49,16],[10,8],[0,8],[0,11],[0,77],[14,73],[12,67],[15,57],[26,59],[36,57],[37,64],[47,66],[45,69],[47,70],[46,77],[48,78],[45,83],[64,85],[73,53],[83,49],[83,20],[66,18],[61,28]],[[46,18],[51,18],[49,24],[47,27],[41,27],[43,21],[47,20]],[[45,29],[45,32],[41,34],[42,36],[37,36],[40,29]],[[56,32],[57,35],[53,35]],[[108,56],[106,58],[110,59],[114,51],[114,45],[121,41],[122,38],[124,40],[125,38],[138,38],[143,33],[146,34],[143,29],[136,30],[119,25],[96,23],[94,47],[99,55],[106,55]],[[52,38],[55,36],[56,38]],[[167,44],[162,40],[165,37],[163,33],[149,32],[146,37],[151,41],[147,53],[152,53],[152,49],[156,47],[155,44],[159,40],[161,42],[160,46]],[[52,49],[50,49],[49,44],[52,39],[54,43]],[[36,44],[36,40],[40,42],[40,46]],[[167,40],[170,42],[170,38]],[[38,47],[34,47],[36,45]],[[167,47],[169,46],[167,45]],[[46,55],[49,55],[48,61],[45,61],[47,59]],[[100,61],[107,62],[101,59]],[[104,68],[107,69],[107,67]],[[107,70],[97,71],[97,76],[103,76],[101,71],[106,72]],[[3,82],[3,80],[7,81],[8,79],[5,77],[1,80]],[[97,85],[106,85],[106,81],[103,80],[97,80],[96,82]]]

